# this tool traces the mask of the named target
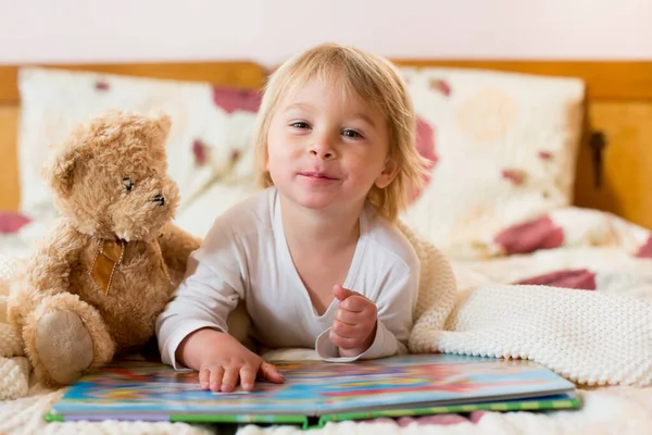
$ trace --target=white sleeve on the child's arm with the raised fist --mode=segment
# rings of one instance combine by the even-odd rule
[[[413,323],[413,309],[418,295],[418,268],[415,266],[380,289],[376,300],[378,321],[376,337],[369,348],[355,357],[340,357],[337,346],[328,338],[330,327],[315,341],[319,358],[331,362],[350,362],[391,357],[408,352],[408,340]]]

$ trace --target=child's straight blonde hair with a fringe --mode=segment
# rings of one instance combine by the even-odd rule
[[[406,207],[419,189],[426,173],[426,160],[415,147],[416,122],[412,99],[396,67],[386,59],[362,50],[326,44],[314,47],[285,62],[268,78],[255,129],[256,174],[259,187],[274,183],[265,169],[269,122],[281,96],[317,78],[341,84],[346,94],[354,91],[375,104],[387,122],[388,157],[398,165],[398,174],[385,188],[373,186],[367,200],[377,212],[390,221]]]

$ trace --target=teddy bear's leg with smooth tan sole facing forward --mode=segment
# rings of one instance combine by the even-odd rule
[[[100,313],[77,295],[43,298],[23,328],[25,352],[46,385],[70,385],[113,358],[115,345]]]

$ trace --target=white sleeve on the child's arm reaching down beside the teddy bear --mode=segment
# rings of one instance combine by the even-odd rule
[[[244,293],[244,256],[233,234],[213,226],[188,258],[186,276],[156,319],[161,359],[183,369],[175,358],[179,344],[203,327],[228,333],[227,318]]]

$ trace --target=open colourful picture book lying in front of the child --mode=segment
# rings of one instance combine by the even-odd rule
[[[47,421],[145,420],[288,423],[424,415],[474,410],[577,408],[575,385],[530,361],[411,355],[373,361],[274,361],[284,384],[247,393],[199,388],[195,371],[139,359],[83,377]]]

